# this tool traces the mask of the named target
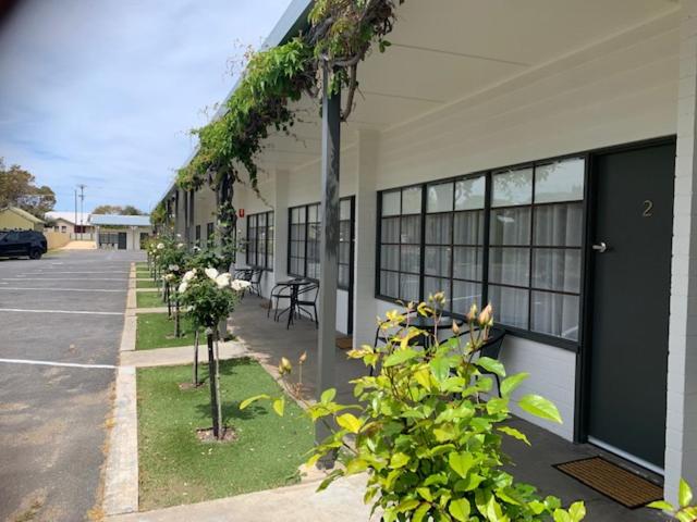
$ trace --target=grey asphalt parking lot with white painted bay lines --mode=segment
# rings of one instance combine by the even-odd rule
[[[0,259],[0,520],[98,515],[129,270],[143,258]]]

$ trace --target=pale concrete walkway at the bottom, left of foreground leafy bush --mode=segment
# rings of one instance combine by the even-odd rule
[[[341,478],[321,493],[319,482],[249,493],[208,502],[111,517],[110,522],[362,522],[370,519],[363,504],[366,475]]]

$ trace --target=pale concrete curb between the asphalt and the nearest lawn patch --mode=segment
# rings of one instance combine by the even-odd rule
[[[135,368],[119,366],[105,468],[103,511],[107,515],[138,510],[138,421]]]

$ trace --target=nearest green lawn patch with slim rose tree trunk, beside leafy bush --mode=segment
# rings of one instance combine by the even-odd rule
[[[204,377],[206,366],[201,366]],[[313,426],[292,400],[279,418],[258,402],[240,411],[242,400],[276,394],[278,385],[256,361],[221,362],[224,424],[232,443],[200,443],[197,427],[210,427],[208,383],[180,390],[191,365],[137,370],[140,510],[193,504],[279,487],[297,481],[296,470],[313,446]]]

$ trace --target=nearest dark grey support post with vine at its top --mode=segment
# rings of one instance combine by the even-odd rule
[[[323,66],[322,82],[322,160],[321,160],[321,227],[319,263],[319,335],[317,340],[317,394],[335,386],[334,353],[337,349],[337,277],[339,273],[339,152],[341,147],[341,92],[329,92],[329,71]],[[316,424],[318,442],[328,435]],[[331,467],[330,462],[318,465]]]

